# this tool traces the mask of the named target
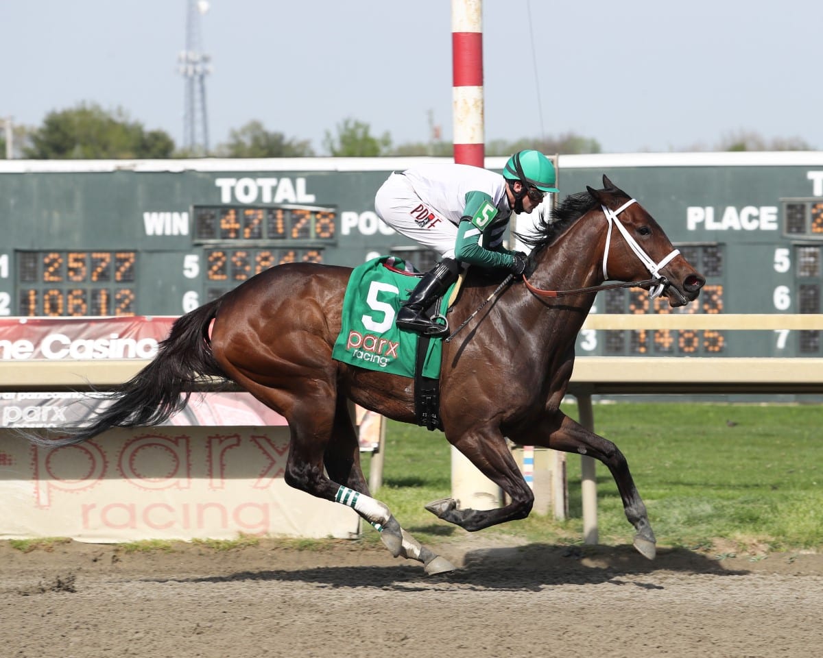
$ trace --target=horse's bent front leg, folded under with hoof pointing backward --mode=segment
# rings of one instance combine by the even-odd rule
[[[426,505],[429,512],[471,532],[528,517],[534,504],[534,493],[526,480],[523,480],[500,429],[488,425],[447,438],[483,475],[509,494],[511,502],[504,507],[489,510],[458,509],[456,500],[443,498]]]

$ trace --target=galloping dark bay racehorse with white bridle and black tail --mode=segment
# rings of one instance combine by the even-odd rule
[[[504,274],[468,272],[449,313],[452,327],[468,322],[443,345],[439,415],[449,443],[510,502],[474,510],[446,498],[427,508],[467,531],[522,519],[534,498],[506,437],[582,453],[611,471],[635,527],[635,547],[653,558],[655,538],[625,457],[560,411],[560,402],[574,367],[575,337],[596,295],[591,288],[605,280],[644,280],[650,294],[676,307],[695,299],[705,281],[638,202],[606,176],[603,185],[566,197],[534,234],[523,236],[533,247],[523,281],[507,286]],[[89,424],[58,429],[56,439],[29,438],[58,447],[113,427],[158,424],[184,406],[199,379],[235,382],[286,418],[288,484],[353,507],[395,557],[416,559],[428,573],[451,570],[370,496],[360,470],[348,401],[402,422],[414,423],[416,416],[413,379],[332,359],[350,274],[350,268],[311,263],[263,271],[179,317],[155,359],[116,387],[113,404]],[[572,292],[551,292],[558,290]]]

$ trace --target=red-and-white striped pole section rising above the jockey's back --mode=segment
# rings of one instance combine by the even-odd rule
[[[483,2],[452,0],[454,161],[485,165]]]

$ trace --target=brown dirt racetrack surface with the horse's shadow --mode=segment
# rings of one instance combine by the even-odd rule
[[[127,554],[0,542],[0,656],[820,656],[823,555],[718,561],[630,547],[438,547],[426,577],[342,544]]]

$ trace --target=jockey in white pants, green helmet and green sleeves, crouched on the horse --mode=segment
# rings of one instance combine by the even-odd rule
[[[512,211],[530,213],[546,192],[557,192],[555,167],[539,151],[518,151],[503,175],[471,165],[419,165],[394,172],[377,191],[381,220],[407,238],[440,253],[398,312],[397,325],[426,336],[448,327],[425,309],[458,278],[461,266],[506,268],[523,274],[527,257],[503,247]]]

